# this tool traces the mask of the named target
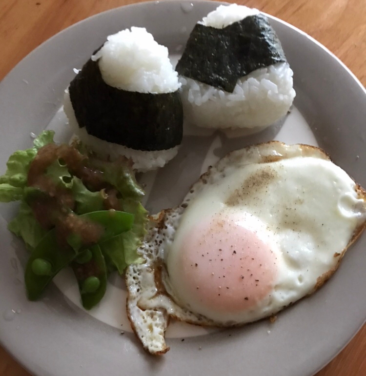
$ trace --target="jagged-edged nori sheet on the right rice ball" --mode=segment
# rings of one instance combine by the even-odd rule
[[[250,72],[287,61],[267,17],[245,17],[223,29],[199,23],[193,28],[176,71],[232,93]]]

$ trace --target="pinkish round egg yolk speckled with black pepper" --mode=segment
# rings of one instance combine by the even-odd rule
[[[270,295],[277,265],[265,230],[249,215],[232,213],[216,214],[192,228],[178,261],[192,311],[237,313]]]

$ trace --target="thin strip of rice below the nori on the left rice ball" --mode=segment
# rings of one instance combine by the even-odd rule
[[[174,158],[178,153],[179,146],[167,150],[142,151],[135,150],[117,143],[108,142],[89,135],[85,127],[80,128],[75,117],[69,92],[66,90],[63,100],[63,110],[69,120],[69,126],[81,142],[88,146],[102,158],[116,160],[120,156],[125,156],[133,160],[133,168],[139,172],[146,172],[163,167],[170,159]]]

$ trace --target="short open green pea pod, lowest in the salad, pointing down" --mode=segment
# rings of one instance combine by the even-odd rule
[[[91,258],[87,262],[76,258],[71,266],[78,280],[82,306],[85,309],[91,309],[101,301],[105,294],[107,267],[98,244],[90,247],[87,251],[91,254]]]

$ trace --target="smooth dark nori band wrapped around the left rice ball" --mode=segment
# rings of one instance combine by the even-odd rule
[[[183,107],[173,93],[138,93],[107,85],[98,61],[89,59],[70,82],[79,127],[88,134],[135,150],[170,149],[183,137]]]

